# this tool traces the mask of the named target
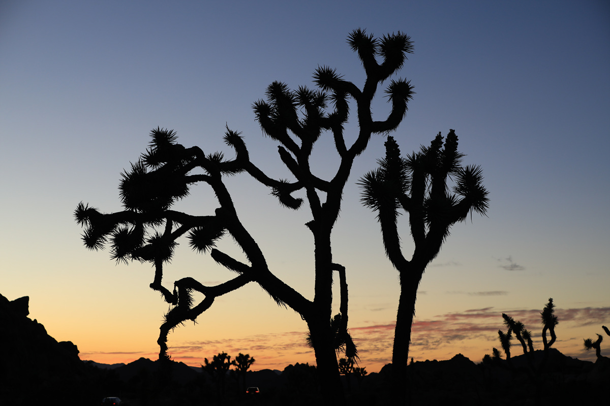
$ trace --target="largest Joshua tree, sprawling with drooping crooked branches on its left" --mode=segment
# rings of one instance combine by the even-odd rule
[[[120,183],[124,211],[102,214],[98,209],[79,204],[76,220],[85,226],[83,240],[91,249],[110,243],[117,261],[137,260],[154,265],[152,289],[174,307],[165,317],[159,340],[160,357],[167,356],[167,335],[186,320],[195,320],[209,309],[215,298],[254,281],[281,306],[295,310],[306,321],[314,348],[320,387],[329,404],[342,404],[337,356],[337,335],[332,332],[332,284],[335,272],[345,269],[333,262],[331,233],[342,203],[343,188],[350,176],[354,159],[367,148],[372,135],[386,135],[395,130],[407,111],[412,86],[403,79],[391,80],[386,89],[392,110],[386,119],[373,120],[371,102],[378,86],[395,74],[412,52],[411,39],[401,32],[374,38],[364,30],[354,30],[348,37],[364,66],[366,80],[362,89],[344,80],[334,69],[320,66],[314,83],[318,90],[300,87],[293,91],[287,85],[273,82],[267,88],[267,100],[254,103],[254,113],[262,130],[279,145],[279,158],[290,170],[294,181],[273,178],[259,169],[249,157],[240,133],[227,128],[224,141],[234,149],[235,158],[224,159],[220,152],[206,154],[199,147],[184,147],[176,142],[176,133],[157,128],[151,132],[149,149]],[[381,58],[381,63],[377,61]],[[359,131],[353,144],[346,143],[344,128],[350,103],[355,103]],[[328,180],[314,175],[310,156],[314,144],[329,133],[334,139],[339,165]],[[271,189],[271,194],[287,208],[298,209],[304,199],[312,220],[306,223],[314,240],[314,297],[307,299],[281,281],[268,267],[267,256],[245,228],[235,208],[224,178],[246,172]],[[197,183],[212,187],[219,207],[214,214],[191,215],[171,209],[187,197]],[[304,199],[293,197],[304,192]],[[170,262],[179,237],[186,236],[199,253],[209,253],[218,264],[238,275],[217,286],[201,284],[193,278],[174,282],[173,290],[162,284],[163,265]],[[215,248],[218,240],[230,236],[245,253],[239,261]],[[193,290],[204,299],[195,304]],[[347,309],[347,297],[341,297],[341,308]],[[347,313],[341,312],[342,326]]]

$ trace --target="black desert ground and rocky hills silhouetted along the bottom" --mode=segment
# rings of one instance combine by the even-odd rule
[[[82,361],[76,345],[58,343],[45,327],[30,320],[27,297],[9,301],[0,295],[0,404],[99,405],[118,396],[129,405],[315,405],[321,396],[315,366],[289,365],[283,371],[248,371],[246,396],[241,379],[230,371],[223,391],[218,380],[184,363],[141,358],[127,365]],[[534,365],[544,351],[534,352]],[[605,399],[610,360],[572,359],[550,348],[544,371],[531,373],[526,355],[511,363],[496,359],[476,364],[461,354],[451,360],[415,362],[407,367],[412,405],[583,404]],[[364,377],[345,376],[351,405],[386,405],[392,365]],[[221,393],[219,397],[219,393]]]

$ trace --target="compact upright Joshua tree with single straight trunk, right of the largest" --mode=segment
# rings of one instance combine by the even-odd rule
[[[489,205],[479,166],[462,167],[458,136],[450,130],[443,145],[440,133],[429,147],[402,158],[397,142],[389,136],[386,157],[379,168],[361,178],[362,202],[377,212],[386,254],[398,270],[400,299],[392,351],[393,387],[406,382],[411,326],[417,287],[428,264],[440,251],[451,226],[472,211],[485,215]],[[453,180],[453,194],[448,180]],[[411,260],[403,254],[397,222],[399,211],[409,214],[415,250]]]

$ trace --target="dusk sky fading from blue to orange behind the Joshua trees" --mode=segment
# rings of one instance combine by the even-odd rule
[[[148,287],[152,268],[85,249],[76,205],[120,211],[120,173],[157,127],[230,158],[228,125],[242,132],[254,163],[289,178],[252,104],[274,80],[313,88],[322,65],[361,87],[364,71],[346,44],[359,27],[376,37],[404,32],[414,43],[396,75],[416,93],[392,134],[401,151],[454,128],[464,163],[483,168],[490,194],[487,217],[455,225],[423,276],[410,356],[480,362],[500,348],[503,312],[525,323],[540,349],[540,311],[553,298],[554,347],[594,360],[583,338],[610,323],[610,4],[602,0],[2,0],[0,293],[29,296],[29,317],[73,341],[81,359],[155,359],[168,306]],[[389,111],[382,96],[375,117]],[[348,130],[357,130],[355,119]],[[383,142],[371,139],[354,164],[332,235],[333,259],[347,270],[359,365],[370,372],[390,362],[400,293],[356,185],[384,155]],[[314,173],[330,176],[336,158],[321,139]],[[307,209],[281,208],[248,175],[228,185],[271,270],[312,299]],[[200,186],[176,209],[206,215],[216,207]],[[410,253],[404,218],[400,228]],[[219,247],[235,250],[231,239]],[[164,282],[185,276],[218,284],[234,275],[183,243]],[[306,329],[251,283],[176,329],[168,345],[188,365],[225,351],[251,355],[253,369],[281,370],[315,363]]]

